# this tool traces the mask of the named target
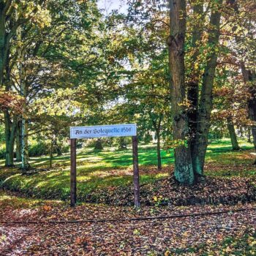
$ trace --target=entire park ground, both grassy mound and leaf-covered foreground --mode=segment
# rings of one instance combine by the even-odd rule
[[[78,151],[75,208],[68,154],[52,169],[48,157],[32,158],[39,171],[30,175],[1,167],[0,255],[255,255],[256,167],[252,144],[240,143],[241,151],[211,143],[206,181],[193,187],[169,178],[172,151],[162,151],[159,171],[155,146],[140,146],[140,210],[132,207],[130,148]]]

